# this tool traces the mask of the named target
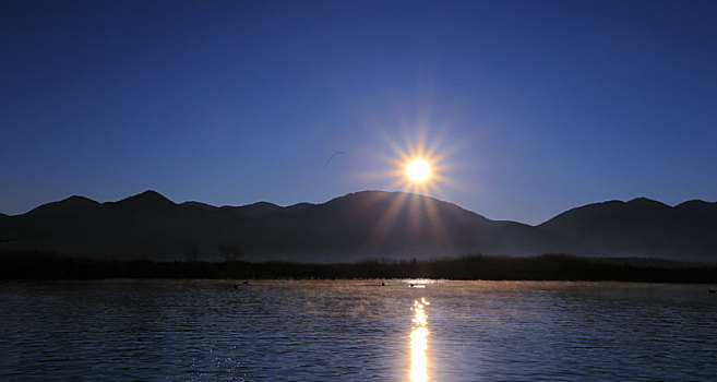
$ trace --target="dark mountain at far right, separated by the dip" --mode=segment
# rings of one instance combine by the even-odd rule
[[[717,259],[717,203],[610,201],[570,210],[538,227],[583,243],[584,254]]]

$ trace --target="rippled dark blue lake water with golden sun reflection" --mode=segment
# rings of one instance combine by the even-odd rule
[[[3,283],[0,380],[717,379],[708,286],[386,284]]]

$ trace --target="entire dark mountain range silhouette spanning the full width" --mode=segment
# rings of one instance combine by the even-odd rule
[[[323,204],[176,204],[154,191],[118,202],[82,196],[0,216],[0,249],[99,259],[222,260],[240,246],[249,260],[344,262],[465,253],[573,253],[716,259],[717,204],[670,207],[647,199],[571,210],[539,226],[491,220],[433,198],[362,191]]]

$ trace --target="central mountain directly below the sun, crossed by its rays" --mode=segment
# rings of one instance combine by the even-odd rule
[[[403,192],[356,192],[292,214],[273,215],[252,228],[262,249],[323,259],[335,254],[354,259],[537,254],[562,249],[553,235],[540,229],[490,220],[452,203]]]

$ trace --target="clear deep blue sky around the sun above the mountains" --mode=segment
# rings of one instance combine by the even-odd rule
[[[537,224],[717,200],[715,1],[0,2],[0,212],[399,190]],[[326,163],[335,152],[336,155]]]

